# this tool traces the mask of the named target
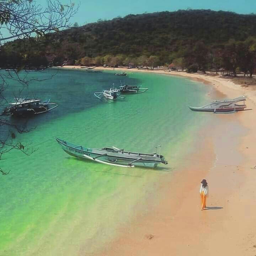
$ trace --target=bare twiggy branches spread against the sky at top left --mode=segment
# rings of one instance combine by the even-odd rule
[[[80,5],[69,1],[62,4],[59,0],[47,0],[42,7],[34,0],[0,0],[0,29],[4,28],[10,36],[1,37],[1,41],[40,36],[50,32],[59,32],[70,27],[70,18],[76,14]]]

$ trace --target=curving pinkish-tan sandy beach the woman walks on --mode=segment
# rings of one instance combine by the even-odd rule
[[[252,110],[219,114],[221,124],[198,129],[194,142],[197,150],[184,159],[184,166],[170,179],[160,183],[158,203],[150,205],[146,213],[140,212],[132,223],[124,224],[118,237],[97,255],[256,255],[254,88],[200,73],[115,70],[184,76],[213,86],[214,96],[220,98],[247,95],[247,107]],[[242,129],[237,130],[236,124]],[[203,178],[210,192],[209,208],[201,211],[199,187]]]

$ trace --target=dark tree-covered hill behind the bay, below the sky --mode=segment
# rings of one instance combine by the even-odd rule
[[[30,49],[26,40],[6,43],[0,53],[6,61],[1,58],[0,65],[45,65],[54,59],[56,63],[67,60],[82,65],[132,63],[154,67],[174,63],[191,71],[223,67],[233,73],[238,68],[251,72],[256,65],[255,38],[255,14],[155,12],[99,20],[40,36]]]

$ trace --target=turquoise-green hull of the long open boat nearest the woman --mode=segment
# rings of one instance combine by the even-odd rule
[[[60,140],[57,138],[55,139],[67,154],[81,159],[88,159],[86,156],[89,156],[92,159],[98,159],[103,162],[121,166],[130,166],[130,163],[136,160],[135,162],[132,163],[132,165],[151,168],[157,167],[157,165],[161,163],[160,157],[141,157],[139,155],[135,156],[132,154],[129,156],[127,154],[108,152],[103,149],[85,148],[82,146],[65,142],[64,140]],[[141,159],[138,160],[139,158]]]

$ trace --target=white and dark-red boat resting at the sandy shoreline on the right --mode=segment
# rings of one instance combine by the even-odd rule
[[[206,111],[214,113],[234,113],[237,111],[242,111],[246,108],[245,105],[246,96],[241,96],[238,98],[230,100],[215,100],[210,104],[203,107],[191,107],[188,106],[193,111]],[[238,102],[243,101],[243,104],[238,104]]]

